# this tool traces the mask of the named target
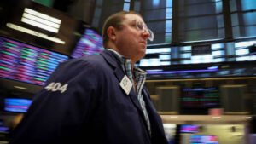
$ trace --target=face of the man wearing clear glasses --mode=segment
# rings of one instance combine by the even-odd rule
[[[150,33],[146,30],[143,19],[137,14],[126,14],[121,26],[116,31],[116,47],[119,54],[135,63],[144,57]]]

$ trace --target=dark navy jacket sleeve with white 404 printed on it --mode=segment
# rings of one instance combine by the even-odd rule
[[[83,59],[58,66],[11,134],[10,144],[79,141],[96,108],[96,73]]]

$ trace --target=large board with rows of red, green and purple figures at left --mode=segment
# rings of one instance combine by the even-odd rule
[[[44,85],[56,66],[65,60],[67,55],[0,37],[0,78]]]

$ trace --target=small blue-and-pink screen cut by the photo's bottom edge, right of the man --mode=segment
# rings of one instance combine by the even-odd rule
[[[218,144],[216,135],[190,135],[191,144]]]

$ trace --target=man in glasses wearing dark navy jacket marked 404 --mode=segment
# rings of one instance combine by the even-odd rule
[[[10,144],[166,144],[160,116],[134,67],[153,40],[134,12],[111,15],[106,50],[68,60],[49,78],[17,126]]]

